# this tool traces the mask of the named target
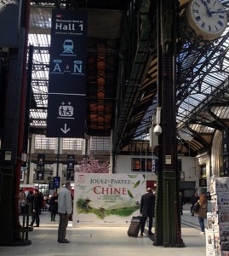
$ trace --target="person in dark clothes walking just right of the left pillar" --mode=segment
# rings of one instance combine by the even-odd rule
[[[32,202],[32,218],[31,218],[31,226],[33,226],[36,221],[36,226],[40,225],[40,214],[42,212],[43,207],[43,195],[39,192],[38,189],[34,190],[33,202]]]

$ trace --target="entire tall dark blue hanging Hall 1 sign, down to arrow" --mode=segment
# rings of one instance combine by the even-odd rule
[[[54,9],[49,61],[47,137],[84,137],[86,9]]]

